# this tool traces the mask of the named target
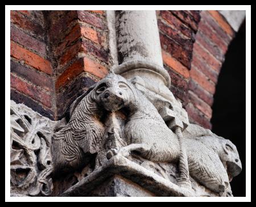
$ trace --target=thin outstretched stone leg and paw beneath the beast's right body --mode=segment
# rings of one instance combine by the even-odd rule
[[[106,154],[108,159],[112,158],[114,155],[121,155],[123,157],[128,157],[131,151],[138,151],[141,154],[147,154],[151,149],[151,145],[147,143],[132,143],[131,145],[121,147],[119,150],[111,149]]]

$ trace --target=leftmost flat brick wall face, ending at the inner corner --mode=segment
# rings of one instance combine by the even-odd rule
[[[11,99],[53,119],[54,83],[42,11],[11,11]]]

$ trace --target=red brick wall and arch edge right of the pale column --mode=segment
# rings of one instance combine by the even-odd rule
[[[191,122],[211,129],[213,95],[234,31],[218,11],[157,14],[170,90],[183,103]]]

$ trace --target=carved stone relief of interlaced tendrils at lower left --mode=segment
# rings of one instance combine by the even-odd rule
[[[11,101],[11,194],[48,196],[52,192],[49,153],[54,122]]]

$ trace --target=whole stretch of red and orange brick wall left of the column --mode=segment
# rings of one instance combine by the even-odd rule
[[[52,120],[109,69],[105,11],[11,11],[11,99]]]

